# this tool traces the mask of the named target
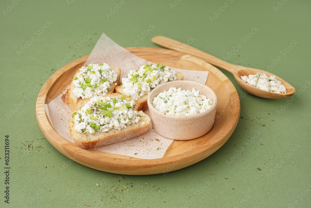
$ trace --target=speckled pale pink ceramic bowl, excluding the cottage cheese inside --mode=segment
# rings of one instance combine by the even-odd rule
[[[171,87],[180,87],[184,90],[200,90],[200,94],[205,95],[213,103],[211,107],[202,113],[188,116],[175,116],[161,113],[152,105],[154,97],[159,93],[169,90]],[[214,125],[217,96],[215,92],[206,85],[199,82],[179,80],[171,81],[157,86],[148,96],[148,108],[152,123],[152,128],[161,136],[175,140],[195,139],[205,135]]]

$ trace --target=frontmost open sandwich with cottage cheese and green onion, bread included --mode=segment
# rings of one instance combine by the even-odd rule
[[[149,125],[149,116],[136,110],[135,101],[112,93],[78,98],[69,129],[80,148],[91,149],[141,136]]]

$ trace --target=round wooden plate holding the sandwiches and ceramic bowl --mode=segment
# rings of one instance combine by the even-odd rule
[[[199,162],[214,153],[228,140],[238,123],[240,100],[234,85],[220,70],[205,61],[181,52],[146,47],[127,50],[154,63],[180,69],[209,71],[206,85],[213,89],[218,97],[215,124],[211,131],[193,140],[174,140],[160,159],[130,158],[94,149],[79,148],[75,143],[69,142],[54,131],[43,105],[49,104],[67,88],[76,70],[86,62],[88,56],[84,56],[56,71],[46,81],[38,95],[37,121],[42,133],[53,147],[70,159],[97,170],[128,175],[148,175],[178,170]]]

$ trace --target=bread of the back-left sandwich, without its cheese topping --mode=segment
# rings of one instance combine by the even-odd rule
[[[119,83],[120,80],[120,76],[121,76],[121,70],[118,67],[115,66],[111,66],[110,67],[111,70],[114,70],[117,74],[117,80],[115,82],[113,82],[110,85],[110,88],[108,89],[107,94],[110,93],[114,93],[114,89],[117,83]],[[76,76],[78,73],[80,72],[80,70],[77,70],[76,74],[74,76]],[[65,94],[62,95],[62,100],[72,109],[75,109],[75,106],[77,104],[77,97],[73,94],[73,89],[75,89],[75,86],[73,85],[73,81],[71,81],[69,88],[67,89],[67,92]],[[104,94],[99,94],[99,95],[104,95]]]

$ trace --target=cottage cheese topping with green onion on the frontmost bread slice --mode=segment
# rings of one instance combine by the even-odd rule
[[[126,125],[137,123],[140,119],[137,111],[132,110],[135,101],[120,98],[95,96],[81,110],[73,113],[75,129],[79,132],[106,132],[115,128],[120,130]]]

